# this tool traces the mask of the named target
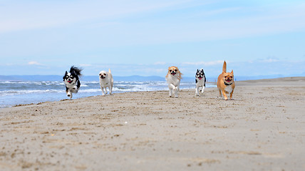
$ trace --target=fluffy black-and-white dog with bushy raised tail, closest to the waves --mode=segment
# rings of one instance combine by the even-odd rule
[[[79,81],[81,71],[82,69],[71,66],[70,72],[66,71],[65,76],[63,76],[63,81],[66,84],[66,93],[70,99],[72,98],[72,93],[77,93],[81,87],[81,81]]]

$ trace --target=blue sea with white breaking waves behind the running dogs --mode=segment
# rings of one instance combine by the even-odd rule
[[[206,87],[214,87],[207,83]],[[181,89],[195,88],[195,82],[181,82]],[[113,93],[168,90],[166,81],[115,81]],[[194,91],[195,93],[195,91]],[[98,81],[81,81],[73,99],[102,95]],[[63,81],[0,81],[0,108],[68,99]]]

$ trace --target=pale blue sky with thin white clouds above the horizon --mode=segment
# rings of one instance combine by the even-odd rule
[[[305,74],[303,0],[0,0],[0,75]]]

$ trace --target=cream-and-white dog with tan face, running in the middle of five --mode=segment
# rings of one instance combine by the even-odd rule
[[[170,97],[172,97],[172,93],[174,93],[175,98],[177,98],[178,91],[180,90],[180,80],[182,79],[182,73],[180,73],[177,67],[170,66],[168,68],[168,72],[165,76],[165,79],[168,83],[168,88],[170,88]]]

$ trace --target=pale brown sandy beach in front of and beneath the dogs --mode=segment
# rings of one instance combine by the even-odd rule
[[[0,109],[0,170],[305,170],[305,78]]]

